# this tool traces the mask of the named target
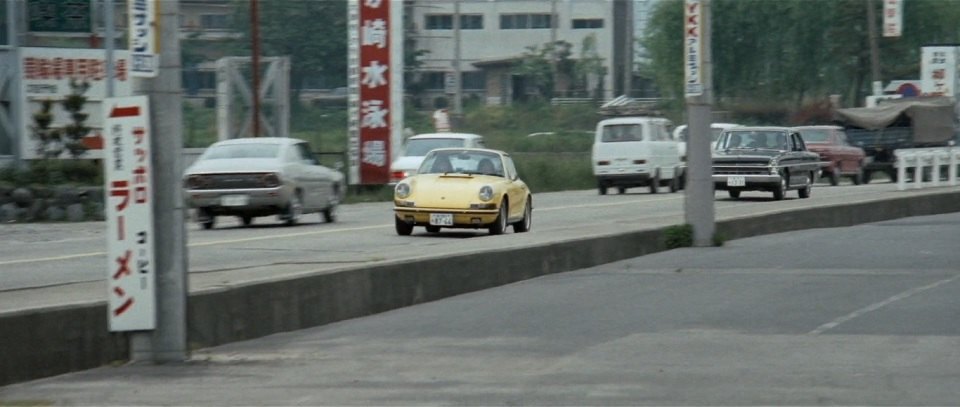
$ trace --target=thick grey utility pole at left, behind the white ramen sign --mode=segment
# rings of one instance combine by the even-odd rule
[[[150,97],[150,148],[153,174],[153,245],[157,325],[131,337],[133,361],[184,361],[187,349],[187,242],[181,171],[183,106],[178,36],[180,2],[156,0],[159,11],[160,66],[156,78],[142,79]]]

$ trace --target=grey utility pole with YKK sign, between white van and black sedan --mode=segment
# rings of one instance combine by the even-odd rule
[[[713,63],[710,53],[711,0],[684,2],[684,71],[686,72],[687,182],[684,212],[693,226],[693,245],[713,245],[716,228],[710,122],[713,107]]]

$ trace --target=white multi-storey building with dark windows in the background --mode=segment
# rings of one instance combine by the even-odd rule
[[[629,88],[625,73],[633,66],[633,0],[413,0],[406,5],[408,43],[426,51],[419,72],[428,97],[452,97],[459,70],[465,97],[480,97],[487,104],[521,100],[531,87],[512,70],[528,47],[566,41],[576,59],[588,37],[595,38],[596,55],[606,67],[606,75],[590,79],[602,81],[601,97],[610,99]],[[588,91],[563,85],[555,96],[586,96]]]

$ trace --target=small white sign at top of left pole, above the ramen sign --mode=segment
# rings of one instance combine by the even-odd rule
[[[156,0],[127,0],[131,76],[154,78],[159,72],[156,7]]]

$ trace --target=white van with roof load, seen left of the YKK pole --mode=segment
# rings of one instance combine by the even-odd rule
[[[673,123],[661,117],[617,117],[601,120],[593,141],[593,175],[600,195],[607,188],[624,193],[649,187],[650,193],[669,185],[680,189],[682,162],[672,136]]]

